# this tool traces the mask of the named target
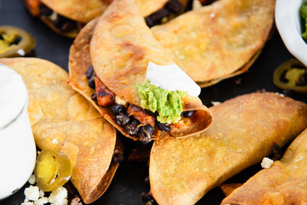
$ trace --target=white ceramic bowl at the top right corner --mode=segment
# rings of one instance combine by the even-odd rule
[[[275,21],[287,49],[307,66],[307,44],[301,36],[300,7],[304,0],[277,0]]]

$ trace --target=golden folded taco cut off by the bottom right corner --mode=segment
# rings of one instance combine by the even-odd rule
[[[222,204],[307,204],[307,129],[280,161],[263,169],[233,191]]]

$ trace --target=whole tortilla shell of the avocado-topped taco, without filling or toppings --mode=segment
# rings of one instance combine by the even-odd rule
[[[108,89],[130,104],[141,107],[136,83],[145,80],[148,62],[169,65],[173,61],[164,55],[163,48],[153,38],[132,0],[114,1],[95,26],[97,21],[95,19],[89,22],[80,31],[71,47],[68,83],[91,101],[103,117],[123,135],[139,140],[139,136],[130,136],[126,133],[126,128],[116,124],[115,115],[110,107],[99,107],[91,100],[91,93],[95,90],[88,87],[85,72],[90,65],[93,65],[96,75]],[[95,32],[91,38],[94,28]],[[187,118],[191,122],[189,128],[183,130],[173,127],[171,134],[176,137],[186,137],[208,128],[212,123],[212,114],[200,99],[185,96],[182,100],[184,111],[197,110],[197,112],[191,118]],[[165,132],[157,131],[155,136],[164,134]]]

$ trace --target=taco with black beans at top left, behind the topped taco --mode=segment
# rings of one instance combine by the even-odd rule
[[[33,16],[55,32],[75,38],[89,21],[100,16],[112,0],[23,0]],[[162,8],[168,0],[136,0],[143,17]]]

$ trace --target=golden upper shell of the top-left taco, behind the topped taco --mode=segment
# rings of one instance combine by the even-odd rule
[[[112,0],[40,0],[59,14],[87,23],[103,14]],[[161,9],[168,0],[135,0],[141,15],[146,17]]]

